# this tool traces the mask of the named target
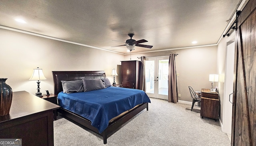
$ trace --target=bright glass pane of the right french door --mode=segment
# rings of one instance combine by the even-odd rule
[[[168,59],[158,61],[158,94],[168,95]]]

